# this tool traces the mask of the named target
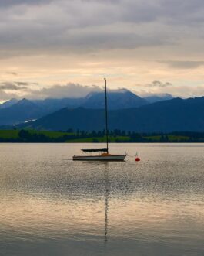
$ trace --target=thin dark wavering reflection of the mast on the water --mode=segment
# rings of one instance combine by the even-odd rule
[[[110,194],[110,186],[109,186],[109,170],[108,166],[105,165],[105,236],[104,242],[107,244],[108,242],[108,213],[109,213],[109,194]]]

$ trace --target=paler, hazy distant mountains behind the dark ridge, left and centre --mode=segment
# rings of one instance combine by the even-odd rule
[[[108,94],[109,110],[137,108],[149,104],[144,98],[139,97],[129,90],[110,90]],[[0,125],[16,125],[25,121],[42,118],[46,114],[59,111],[62,108],[104,108],[105,96],[103,92],[91,93],[81,98],[62,98],[45,100],[18,101],[11,99],[0,104]]]

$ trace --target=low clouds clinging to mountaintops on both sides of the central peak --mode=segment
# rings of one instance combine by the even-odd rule
[[[52,85],[51,87],[42,87],[33,89],[33,83],[26,82],[14,82],[14,83],[1,83],[0,95],[2,101],[8,101],[11,98],[22,99],[26,97],[28,99],[45,99],[45,98],[77,98],[85,97],[92,92],[104,91],[104,88],[95,85],[85,86],[82,84],[64,84],[64,85]],[[118,90],[123,90],[118,88]],[[137,84],[132,87],[132,92],[138,94],[141,97],[154,94],[172,94],[175,97],[199,97],[204,91],[204,85],[199,86],[184,86],[174,85],[169,82],[152,81],[149,84]]]

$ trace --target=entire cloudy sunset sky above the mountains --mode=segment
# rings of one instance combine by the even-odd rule
[[[203,0],[0,0],[0,101],[204,95]]]

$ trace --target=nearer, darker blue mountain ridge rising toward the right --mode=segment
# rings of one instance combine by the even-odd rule
[[[63,108],[21,128],[99,131],[105,128],[102,109]],[[204,131],[204,97],[175,98],[139,108],[109,111],[109,129],[137,132]]]

